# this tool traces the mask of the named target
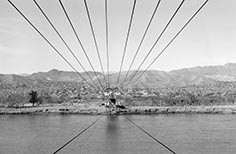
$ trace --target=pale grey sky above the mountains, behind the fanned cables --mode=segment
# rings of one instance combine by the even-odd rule
[[[79,71],[82,68],[40,13],[33,0],[12,0],[31,22]],[[37,0],[74,51],[84,68],[91,67],[58,0]],[[83,0],[62,0],[96,71],[101,72]],[[204,0],[186,0],[141,69],[165,47]],[[107,72],[104,0],[87,0],[102,64]],[[128,70],[157,0],[137,0],[122,70]],[[162,0],[132,67],[137,69],[181,0]],[[133,0],[108,0],[109,71],[118,72],[125,46]],[[150,67],[152,70],[236,63],[236,1],[209,0],[208,4]],[[22,74],[51,69],[72,71],[61,57],[8,3],[0,0],[0,73]]]

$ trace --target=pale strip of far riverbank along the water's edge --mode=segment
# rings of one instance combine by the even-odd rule
[[[0,108],[0,115],[11,114],[86,114],[86,115],[101,115],[101,114],[236,114],[236,105],[225,106],[130,106],[125,110],[117,110],[109,112],[101,105],[54,105],[54,106],[39,106],[31,108]]]

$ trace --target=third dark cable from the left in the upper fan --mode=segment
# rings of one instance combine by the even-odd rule
[[[67,13],[67,11],[66,11],[64,5],[63,5],[63,3],[62,3],[62,0],[59,0],[59,3],[60,3],[60,5],[61,5],[61,7],[62,7],[62,9],[63,9],[63,12],[64,12],[64,14],[65,14],[65,16],[66,16],[66,18],[67,18],[69,24],[70,24],[70,26],[71,26],[71,28],[72,28],[72,30],[73,30],[75,36],[76,36],[76,39],[77,39],[78,43],[80,44],[80,47],[81,47],[81,49],[82,49],[84,55],[86,56],[86,58],[87,58],[87,60],[88,60],[88,62],[89,62],[90,67],[91,67],[92,70],[93,70],[93,73],[94,73],[95,76],[97,77],[100,86],[103,88],[103,85],[102,85],[100,79],[98,78],[97,72],[95,71],[95,69],[94,69],[94,67],[93,67],[93,64],[91,63],[91,60],[90,60],[90,58],[89,58],[87,52],[85,51],[85,48],[84,48],[84,46],[83,46],[83,44],[82,44],[82,42],[81,42],[81,40],[80,40],[80,38],[79,38],[79,36],[78,36],[78,34],[77,34],[75,28],[74,28],[74,26],[73,26],[73,23],[72,23],[72,21],[71,21],[69,15],[68,15],[68,13]]]

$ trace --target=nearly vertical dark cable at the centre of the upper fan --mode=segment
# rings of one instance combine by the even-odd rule
[[[107,52],[107,86],[110,87],[109,81],[109,35],[108,35],[108,17],[107,17],[107,0],[105,0],[105,20],[106,20],[106,52]]]

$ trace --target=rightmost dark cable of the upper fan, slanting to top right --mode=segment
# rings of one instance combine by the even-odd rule
[[[188,26],[188,24],[194,19],[194,17],[202,10],[202,8],[207,4],[206,0],[200,8],[193,14],[193,16],[185,23],[185,25],[179,30],[179,32],[171,39],[171,41],[162,49],[162,51],[155,57],[155,59],[148,65],[148,67],[142,72],[142,74],[134,81],[136,83],[142,75],[154,64],[154,62],[165,52],[165,50],[171,45],[171,43],[179,36],[179,34]],[[133,84],[134,84],[133,83]]]

